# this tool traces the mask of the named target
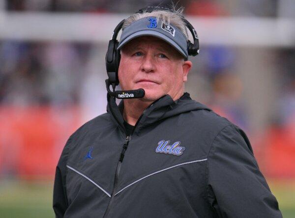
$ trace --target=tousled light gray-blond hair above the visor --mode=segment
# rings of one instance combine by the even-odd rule
[[[161,8],[161,7],[159,7]],[[164,8],[166,9],[166,8]],[[124,30],[127,26],[132,24],[133,22],[145,18],[145,17],[156,17],[157,20],[163,21],[165,24],[168,25],[173,25],[174,27],[178,28],[188,39],[187,35],[187,30],[186,30],[186,25],[184,21],[182,20],[183,18],[183,7],[180,7],[179,9],[176,10],[176,8],[172,8],[173,11],[167,11],[167,10],[154,10],[152,12],[146,12],[144,11],[143,13],[136,13],[125,19],[125,22],[122,26],[122,30]]]

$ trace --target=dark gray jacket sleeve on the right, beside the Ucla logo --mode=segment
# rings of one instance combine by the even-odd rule
[[[228,125],[207,158],[207,197],[222,218],[282,218],[246,134]]]

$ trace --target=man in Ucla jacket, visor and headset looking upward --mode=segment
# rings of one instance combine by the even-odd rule
[[[245,133],[184,93],[198,44],[175,10],[149,7],[118,25],[106,55],[107,113],[62,151],[57,217],[282,217]],[[118,106],[115,97],[124,98]]]

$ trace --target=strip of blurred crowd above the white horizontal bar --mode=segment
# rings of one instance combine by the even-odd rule
[[[186,14],[198,16],[284,16],[290,15],[292,0],[141,0],[144,5],[182,5]],[[137,11],[138,0],[6,0],[8,10],[130,13]],[[288,15],[287,15],[288,16]]]

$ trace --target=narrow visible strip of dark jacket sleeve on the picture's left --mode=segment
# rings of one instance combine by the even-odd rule
[[[62,218],[68,207],[66,195],[66,162],[71,137],[68,139],[56,168],[56,175],[53,188],[53,210],[57,218]]]

